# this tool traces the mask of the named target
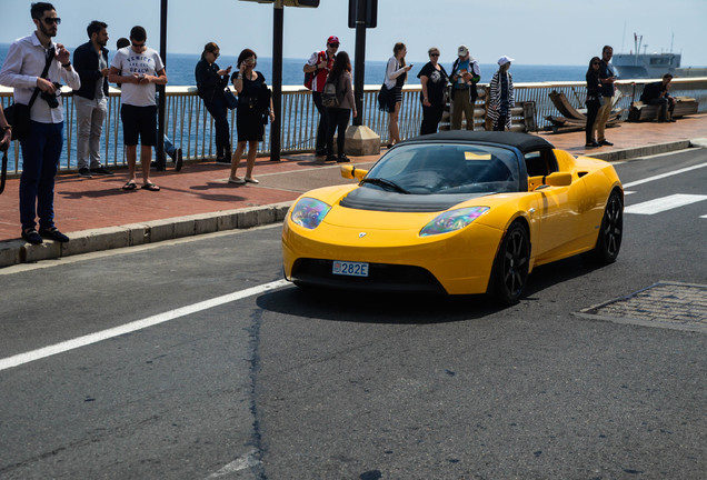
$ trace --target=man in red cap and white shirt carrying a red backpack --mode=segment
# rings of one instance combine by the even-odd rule
[[[317,127],[317,140],[315,148],[317,156],[327,156],[327,131],[329,129],[329,117],[327,108],[321,104],[321,92],[327,81],[327,76],[333,66],[333,59],[339,49],[338,37],[329,37],[327,39],[327,49],[316,51],[311,54],[302,70],[305,71],[305,87],[311,90],[311,99],[319,112],[319,127]]]

